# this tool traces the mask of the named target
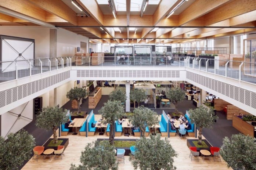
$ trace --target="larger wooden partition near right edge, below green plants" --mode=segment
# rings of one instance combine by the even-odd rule
[[[233,116],[232,125],[235,129],[239,130],[241,133],[254,137],[254,126],[245,122],[239,117]]]

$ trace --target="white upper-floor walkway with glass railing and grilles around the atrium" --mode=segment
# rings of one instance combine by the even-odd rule
[[[61,57],[1,62],[0,114],[70,80],[187,81],[255,114],[255,66],[189,57]]]

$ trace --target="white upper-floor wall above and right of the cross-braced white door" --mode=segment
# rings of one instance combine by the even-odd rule
[[[50,29],[41,26],[1,26],[1,35],[35,39],[35,58],[50,55]]]

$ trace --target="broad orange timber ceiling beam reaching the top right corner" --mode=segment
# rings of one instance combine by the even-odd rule
[[[216,0],[213,1],[214,3]],[[208,6],[208,4],[207,4]],[[223,21],[256,9],[255,0],[232,0],[205,15],[205,25]],[[228,10],[228,11],[227,11]]]

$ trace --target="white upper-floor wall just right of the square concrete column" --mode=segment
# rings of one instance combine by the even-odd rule
[[[89,39],[65,29],[57,29],[57,57],[73,56],[76,53],[75,48],[80,47],[81,41],[86,43]],[[85,53],[88,53],[88,50]]]

